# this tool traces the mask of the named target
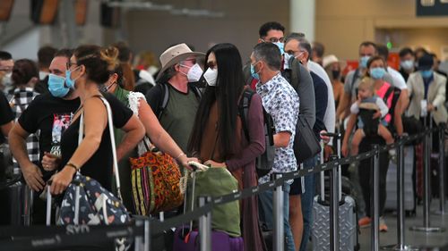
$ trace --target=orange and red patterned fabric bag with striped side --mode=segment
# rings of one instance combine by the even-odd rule
[[[147,152],[130,158],[134,207],[141,215],[169,211],[184,203],[176,160],[148,143],[144,138]]]

